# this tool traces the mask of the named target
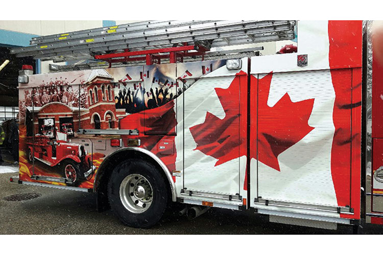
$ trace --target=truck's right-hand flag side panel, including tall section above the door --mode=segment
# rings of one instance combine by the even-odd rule
[[[359,219],[362,23],[298,34],[297,53],[251,60],[250,205]]]

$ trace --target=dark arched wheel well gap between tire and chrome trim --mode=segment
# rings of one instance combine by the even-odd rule
[[[111,155],[109,155],[107,158],[104,159],[95,177],[94,191],[96,191],[98,194],[97,207],[99,211],[103,211],[106,208],[109,208],[108,195],[107,195],[108,182],[113,169],[122,161],[126,159],[131,159],[131,158],[143,159],[153,164],[161,173],[163,178],[167,181],[169,199],[170,201],[173,199],[173,194],[171,189],[172,184],[169,182],[169,178],[166,176],[164,171],[162,171],[163,168],[161,167],[161,165],[153,157],[151,157],[150,155],[147,155],[146,153],[136,151],[136,150],[121,150],[121,151],[112,153]]]

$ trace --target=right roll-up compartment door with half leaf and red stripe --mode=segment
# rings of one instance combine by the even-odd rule
[[[251,80],[252,90],[257,88],[251,106],[257,110],[250,130],[256,151],[252,203],[349,207],[351,69],[270,72]]]

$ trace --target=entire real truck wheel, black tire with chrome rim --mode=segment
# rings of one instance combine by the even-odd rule
[[[165,178],[152,164],[129,159],[119,164],[109,180],[108,196],[117,217],[135,228],[150,228],[162,217],[169,199]]]

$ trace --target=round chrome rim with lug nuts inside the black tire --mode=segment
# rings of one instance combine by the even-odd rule
[[[119,198],[128,211],[143,213],[153,201],[152,185],[141,175],[128,175],[119,185]]]

